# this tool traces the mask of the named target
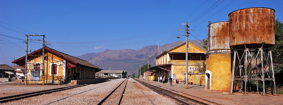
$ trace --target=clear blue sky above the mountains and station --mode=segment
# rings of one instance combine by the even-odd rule
[[[26,34],[44,34],[48,47],[79,56],[185,41],[184,36],[176,38],[184,34],[178,29],[185,22],[193,23],[189,29],[195,30],[189,40],[202,40],[207,38],[208,21],[228,21],[229,13],[244,8],[272,8],[275,19],[283,20],[282,0],[0,0],[0,4],[0,64],[8,65],[25,55]],[[28,50],[42,47],[42,41],[34,42],[28,43]]]

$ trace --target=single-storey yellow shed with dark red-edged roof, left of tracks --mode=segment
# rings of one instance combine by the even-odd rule
[[[26,56],[16,59],[15,63],[26,67]],[[49,47],[44,47],[44,67],[42,63],[42,48],[28,54],[27,80],[28,83],[58,83],[59,79],[71,80],[95,79],[95,73],[101,71],[99,67],[66,53]],[[43,69],[44,68],[44,69]],[[74,78],[74,73],[76,77]],[[43,78],[44,77],[44,78]]]

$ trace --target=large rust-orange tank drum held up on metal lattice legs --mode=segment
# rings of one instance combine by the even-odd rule
[[[229,16],[230,47],[262,45],[269,48],[275,44],[274,9],[246,8],[231,12]]]

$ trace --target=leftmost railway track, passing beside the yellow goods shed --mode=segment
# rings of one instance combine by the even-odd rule
[[[108,80],[105,80],[105,81],[108,81]],[[83,87],[83,86],[87,86],[87,85],[91,85],[91,84],[103,83],[105,81],[97,81],[97,82],[94,82],[94,83],[87,83],[87,84],[82,84],[82,85],[73,85],[73,86],[68,86],[68,87],[54,88],[54,89],[49,89],[49,90],[42,90],[42,91],[29,92],[29,93],[18,94],[18,95],[13,95],[13,96],[0,97],[0,103],[20,100],[20,99],[38,96],[38,95],[42,95],[42,94],[49,94],[49,93],[52,93],[52,92],[58,92],[58,91],[77,88],[77,87]]]

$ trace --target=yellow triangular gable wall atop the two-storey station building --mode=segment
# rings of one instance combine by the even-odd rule
[[[186,52],[186,44],[170,51],[170,52]],[[204,50],[198,48],[197,46],[188,43],[188,53],[205,53]]]

